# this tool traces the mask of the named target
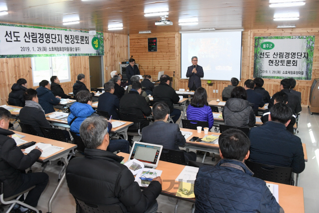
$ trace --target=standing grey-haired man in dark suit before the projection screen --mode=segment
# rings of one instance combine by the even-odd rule
[[[190,91],[196,91],[198,87],[201,87],[200,78],[204,77],[203,67],[197,65],[197,57],[193,56],[191,62],[193,65],[187,68],[186,77],[188,79],[188,88]]]

